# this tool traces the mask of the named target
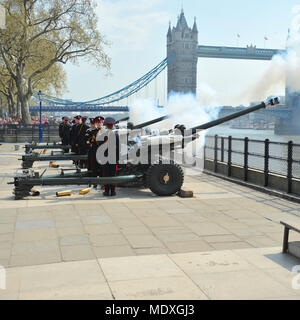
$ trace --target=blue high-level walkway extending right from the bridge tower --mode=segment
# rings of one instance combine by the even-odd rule
[[[245,60],[272,60],[277,54],[285,54],[285,50],[262,49],[256,46],[242,47],[220,47],[220,46],[198,46],[199,58],[221,58],[221,59],[245,59]]]

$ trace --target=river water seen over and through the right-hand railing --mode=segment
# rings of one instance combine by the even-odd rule
[[[259,140],[259,141],[251,142],[249,141],[249,153],[255,153],[255,156],[249,155],[249,167],[254,169],[264,169],[264,143],[265,139],[270,140],[270,156],[272,157],[280,157],[284,160],[279,159],[270,159],[269,167],[270,172],[286,175],[287,174],[287,156],[288,156],[288,148],[287,143],[289,141],[293,141],[294,144],[299,144],[299,146],[294,146],[293,148],[293,176],[295,178],[300,178],[300,136],[279,136],[275,135],[273,130],[251,130],[251,129],[231,129],[227,126],[218,126],[214,127],[207,131],[206,137],[206,146],[213,147],[214,146],[214,138],[210,138],[208,136],[219,135],[222,137],[232,136],[232,138],[241,138],[244,139],[248,137],[250,140]],[[272,142],[280,142],[283,144],[274,144]],[[221,139],[218,141],[218,147],[221,148]],[[225,150],[228,148],[227,139],[225,139],[224,144]],[[243,141],[232,141],[232,150],[237,152],[244,152],[244,142]],[[214,158],[214,150],[207,150],[206,156],[209,158]],[[228,153],[224,153],[224,161],[227,162]],[[218,152],[218,160],[221,160],[221,151]],[[297,162],[298,161],[298,162]],[[232,162],[237,165],[244,164],[244,155],[232,153]]]

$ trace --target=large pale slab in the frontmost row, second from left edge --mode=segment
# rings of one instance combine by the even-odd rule
[[[21,269],[20,299],[111,299],[96,260]]]

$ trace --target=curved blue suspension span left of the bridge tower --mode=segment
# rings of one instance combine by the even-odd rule
[[[72,100],[60,99],[44,93],[41,93],[40,95],[38,93],[35,93],[34,98],[41,99],[43,102],[47,103],[48,105],[59,105],[59,106],[104,106],[104,105],[112,104],[114,102],[118,102],[130,97],[131,95],[140,91],[142,88],[146,87],[151,81],[156,79],[157,76],[162,71],[165,70],[165,68],[174,59],[174,57],[175,55],[170,58],[165,58],[157,66],[155,66],[152,70],[147,72],[141,78],[132,82],[128,86],[101,98],[97,98],[97,99],[89,100],[85,102],[74,102]]]

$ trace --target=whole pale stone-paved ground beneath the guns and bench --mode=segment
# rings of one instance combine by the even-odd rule
[[[0,174],[14,173],[17,159],[0,156]],[[80,196],[78,187],[43,187],[40,197],[15,201],[12,178],[0,179],[8,287],[0,299],[300,299],[291,288],[300,260],[280,253],[279,224],[298,222],[299,204],[192,171],[185,187],[193,199],[144,189],[106,199],[97,190]],[[66,189],[72,197],[56,198]]]

